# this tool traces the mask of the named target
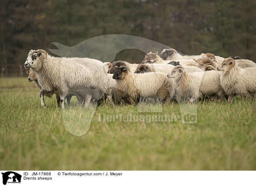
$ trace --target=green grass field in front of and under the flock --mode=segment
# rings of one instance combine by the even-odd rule
[[[1,170],[256,170],[255,101],[201,102],[196,124],[98,122],[97,113],[138,114],[104,105],[81,137],[65,129],[54,96],[45,102],[27,78],[0,78]],[[176,103],[163,111],[180,114]]]

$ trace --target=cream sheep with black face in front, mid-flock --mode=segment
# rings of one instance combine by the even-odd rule
[[[131,73],[127,67],[115,67],[113,79],[116,86],[126,95],[129,103],[138,103],[140,96],[157,96],[167,101],[174,94],[173,81],[169,81],[165,73]]]

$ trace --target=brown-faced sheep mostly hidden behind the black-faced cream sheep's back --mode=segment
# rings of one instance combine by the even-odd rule
[[[172,69],[174,67],[175,66],[170,65],[170,64],[156,64],[156,63],[154,63],[154,64],[139,64],[134,73],[161,72],[161,73],[167,74],[170,71],[172,71]],[[189,73],[203,72],[198,67],[187,66],[187,67],[185,67],[185,69]]]

